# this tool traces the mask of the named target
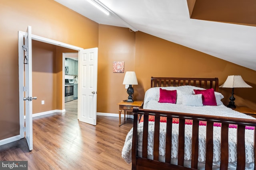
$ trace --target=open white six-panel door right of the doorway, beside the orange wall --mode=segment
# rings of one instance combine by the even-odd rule
[[[98,48],[79,51],[78,119],[96,125]]]

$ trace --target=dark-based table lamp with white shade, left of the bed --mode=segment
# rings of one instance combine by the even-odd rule
[[[132,94],[134,93],[134,90],[132,88],[132,85],[138,85],[137,77],[134,71],[126,71],[123,84],[129,85],[129,87],[127,88],[127,93],[129,94],[129,96],[128,100],[126,100],[125,102],[133,102]]]

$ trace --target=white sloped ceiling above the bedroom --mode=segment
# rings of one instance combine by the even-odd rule
[[[109,16],[86,0],[55,1],[97,23],[130,27],[256,70],[256,27],[190,19],[187,0],[100,0]]]

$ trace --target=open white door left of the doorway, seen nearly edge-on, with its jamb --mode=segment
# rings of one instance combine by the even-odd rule
[[[19,32],[19,86],[20,86],[20,116],[26,116],[24,131],[29,150],[33,149],[32,133],[32,34],[31,26],[28,26],[27,32],[22,36]],[[23,42],[24,37],[24,43]],[[22,40],[21,40],[22,38]],[[24,107],[22,107],[24,106]],[[25,111],[25,114],[24,114]],[[22,129],[22,127],[21,127]],[[24,133],[23,131],[23,133]],[[21,131],[22,132],[22,131]],[[22,136],[22,135],[21,135]]]

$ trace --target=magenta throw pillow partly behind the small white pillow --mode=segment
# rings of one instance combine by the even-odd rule
[[[203,100],[204,106],[217,106],[213,88],[206,89],[206,90],[194,89],[194,92],[195,94],[202,94],[202,100]]]

